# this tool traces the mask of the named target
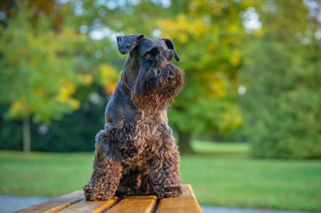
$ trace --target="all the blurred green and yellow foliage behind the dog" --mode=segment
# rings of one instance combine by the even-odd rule
[[[7,118],[34,118],[34,150],[90,147],[125,59],[115,36],[144,33],[172,38],[182,58],[186,86],[169,109],[181,150],[193,133],[233,137],[244,125],[254,156],[320,157],[321,51],[314,35],[321,27],[307,9],[314,1],[15,2],[0,3],[7,15],[0,20],[0,103]],[[249,7],[261,29],[242,25]],[[239,84],[247,87],[240,102]],[[89,101],[95,92],[99,104]],[[42,121],[53,122],[44,135]],[[11,135],[20,123],[0,122],[0,147],[19,149],[21,134]],[[77,130],[61,130],[71,126]]]

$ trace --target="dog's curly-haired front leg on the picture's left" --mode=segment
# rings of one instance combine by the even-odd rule
[[[107,132],[101,130],[96,135],[96,150],[93,173],[84,186],[86,200],[107,200],[115,195],[121,178],[122,166],[115,150],[111,150]]]

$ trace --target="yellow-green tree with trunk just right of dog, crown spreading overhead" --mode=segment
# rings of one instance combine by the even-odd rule
[[[96,6],[99,17],[95,21],[109,30],[173,39],[186,86],[169,110],[169,120],[179,134],[180,151],[188,153],[193,151],[193,133],[224,133],[242,124],[235,104],[243,61],[240,43],[246,36],[239,12],[249,5],[233,0],[142,0],[140,4],[85,1],[83,6],[85,11]],[[96,13],[88,14],[92,18]]]

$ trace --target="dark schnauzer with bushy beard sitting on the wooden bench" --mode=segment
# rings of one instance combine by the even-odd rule
[[[172,64],[180,57],[168,38],[117,36],[127,54],[121,79],[105,110],[104,129],[95,136],[93,173],[83,187],[86,200],[153,194],[182,194],[179,150],[168,125],[167,108],[184,86]]]

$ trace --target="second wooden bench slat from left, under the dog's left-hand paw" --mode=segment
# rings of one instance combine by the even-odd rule
[[[95,200],[95,201],[86,201],[81,200],[76,202],[73,205],[68,206],[67,208],[62,209],[59,212],[104,212],[115,205],[118,201],[118,197],[114,196],[110,200]]]

